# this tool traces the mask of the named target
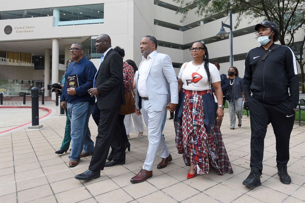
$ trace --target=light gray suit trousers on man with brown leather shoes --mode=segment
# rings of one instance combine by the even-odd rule
[[[143,169],[151,171],[157,151],[162,158],[169,156],[167,145],[161,135],[162,122],[166,110],[154,111],[149,100],[142,99],[142,115],[148,127],[148,150]]]

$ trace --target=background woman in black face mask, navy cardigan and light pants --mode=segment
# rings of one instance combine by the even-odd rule
[[[228,70],[227,78],[230,81],[229,88],[233,93],[233,98],[228,101],[228,106],[230,116],[230,129],[234,130],[236,123],[235,112],[238,118],[238,127],[241,127],[241,119],[243,118],[243,101],[245,101],[244,86],[243,80],[238,77],[238,70],[234,66]]]

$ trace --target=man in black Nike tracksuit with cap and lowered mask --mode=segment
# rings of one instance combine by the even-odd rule
[[[251,172],[243,185],[261,185],[264,138],[269,123],[276,139],[278,175],[282,183],[289,184],[289,139],[299,101],[295,55],[289,47],[274,44],[279,40],[275,23],[263,21],[255,26],[255,30],[261,46],[248,52],[244,73],[245,106],[251,111]]]

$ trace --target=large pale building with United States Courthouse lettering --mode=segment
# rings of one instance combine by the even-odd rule
[[[181,23],[183,10],[176,14],[178,6],[172,0],[2,1],[0,89],[10,95],[29,94],[34,86],[42,88],[61,81],[73,42],[85,46],[85,56],[97,67],[101,54],[96,53],[95,38],[102,33],[109,34],[113,47],[125,49],[124,60],[132,59],[137,64],[141,62],[141,38],[155,36],[157,51],[172,58],[177,74],[184,62],[191,61],[188,48],[193,42],[202,41],[208,47],[210,62],[219,62],[220,72],[226,73],[230,66],[229,39],[220,40],[215,35],[228,14],[202,19],[194,14],[194,6]],[[233,26],[235,19],[233,14]],[[245,19],[233,29],[233,65],[241,77],[248,51],[259,46],[254,32],[259,21],[249,24]],[[295,37],[296,55],[303,34]],[[48,95],[50,92],[46,91]]]

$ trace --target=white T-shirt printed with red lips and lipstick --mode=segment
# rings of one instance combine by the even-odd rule
[[[192,61],[188,62],[186,66],[185,63],[181,66],[178,78],[183,82],[183,89],[197,91],[211,89],[208,85],[208,75],[205,72],[204,63],[199,68],[193,65]],[[209,63],[209,71],[212,83],[221,81],[219,71],[215,65]]]

